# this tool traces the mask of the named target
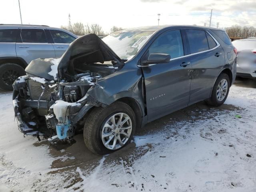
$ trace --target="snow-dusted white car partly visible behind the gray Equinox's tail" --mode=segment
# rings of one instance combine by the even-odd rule
[[[256,78],[256,38],[235,40],[232,44],[238,51],[236,76]]]

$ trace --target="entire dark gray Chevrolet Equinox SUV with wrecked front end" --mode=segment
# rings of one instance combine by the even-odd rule
[[[236,77],[225,31],[199,26],[120,30],[76,39],[61,58],[38,58],[13,84],[19,130],[50,142],[83,130],[95,154],[136,129],[196,102],[224,103]]]

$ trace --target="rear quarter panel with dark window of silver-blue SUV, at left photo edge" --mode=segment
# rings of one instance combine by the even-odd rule
[[[16,57],[18,29],[0,29],[0,57]]]

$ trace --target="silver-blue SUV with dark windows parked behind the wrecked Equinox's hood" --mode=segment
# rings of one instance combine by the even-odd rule
[[[60,28],[0,24],[0,89],[12,90],[32,60],[62,56],[76,38]]]

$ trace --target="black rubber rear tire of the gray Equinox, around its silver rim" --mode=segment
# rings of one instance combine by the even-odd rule
[[[223,91],[219,90],[218,86],[220,85],[221,82],[226,82],[227,83],[226,95],[225,96],[222,95],[222,98],[217,96],[217,92],[221,94],[222,92],[224,92],[224,89],[225,89],[224,88]],[[230,88],[229,76],[227,74],[225,74],[225,73],[221,73],[218,76],[218,78],[217,78],[217,80],[216,80],[216,82],[214,84],[211,97],[208,100],[206,100],[207,104],[212,105],[212,106],[220,106],[220,105],[222,105],[226,101],[226,98],[228,97],[229,88]]]

